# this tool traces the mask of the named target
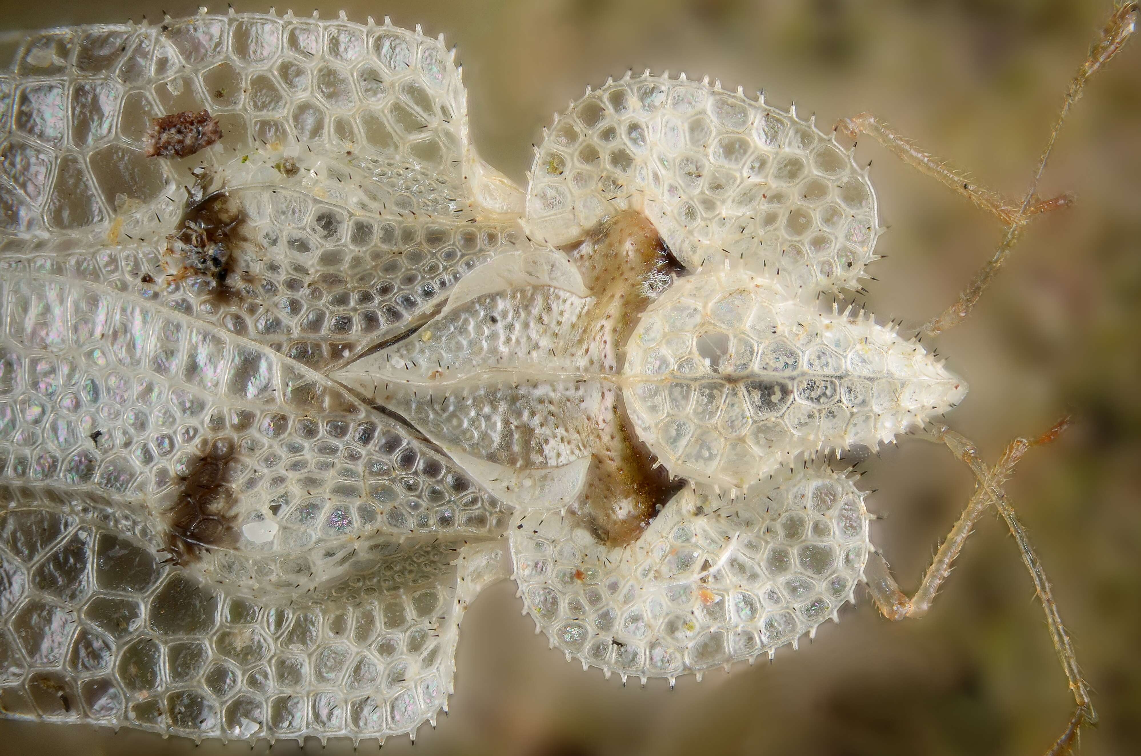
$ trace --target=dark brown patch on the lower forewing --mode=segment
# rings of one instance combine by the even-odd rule
[[[164,548],[175,564],[193,564],[213,548],[237,544],[236,493],[226,480],[234,443],[220,439],[177,484],[175,502],[161,513]]]

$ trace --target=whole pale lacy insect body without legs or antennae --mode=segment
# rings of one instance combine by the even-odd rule
[[[815,455],[965,393],[818,308],[874,259],[875,195],[763,98],[609,81],[523,191],[419,29],[202,11],[13,39],[5,716],[414,737],[463,611],[512,573],[606,674],[771,657],[872,549]],[[203,110],[219,140],[146,156],[153,118]]]

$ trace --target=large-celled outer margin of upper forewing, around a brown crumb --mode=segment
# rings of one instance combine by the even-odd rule
[[[140,224],[154,211],[177,215],[197,169],[228,169],[234,186],[243,174],[234,163],[259,150],[314,150],[354,164],[362,195],[387,196],[403,212],[518,204],[468,147],[451,53],[387,24],[243,14],[50,30],[24,41],[0,93],[5,178],[17,190],[5,192],[2,223],[14,232],[110,223],[124,209],[119,195]],[[219,146],[147,159],[152,118],[201,110],[218,120]],[[422,192],[411,191],[416,184]]]

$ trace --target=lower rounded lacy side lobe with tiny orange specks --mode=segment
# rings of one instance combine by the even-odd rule
[[[852,601],[868,541],[864,494],[828,469],[783,473],[735,500],[679,492],[625,547],[532,510],[509,530],[526,611],[583,667],[667,677],[752,662]]]

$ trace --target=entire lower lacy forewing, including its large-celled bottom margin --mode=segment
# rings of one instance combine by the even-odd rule
[[[79,280],[0,287],[0,474],[31,486],[0,524],[7,711],[195,738],[435,716],[453,563],[496,499],[268,348]]]

